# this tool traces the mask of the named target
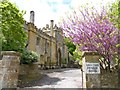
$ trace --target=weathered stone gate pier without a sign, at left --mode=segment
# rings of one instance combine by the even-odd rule
[[[2,51],[2,55],[2,60],[0,60],[0,89],[17,88],[20,54],[14,51]]]

